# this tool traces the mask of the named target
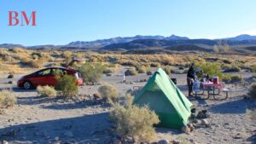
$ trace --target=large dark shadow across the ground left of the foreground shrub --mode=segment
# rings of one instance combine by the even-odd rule
[[[111,138],[112,124],[108,122],[108,112],[76,118],[61,118],[44,122],[20,124],[0,129],[0,141],[14,143],[54,143],[56,136],[61,141],[72,143],[102,143]],[[65,135],[71,132],[73,136]]]

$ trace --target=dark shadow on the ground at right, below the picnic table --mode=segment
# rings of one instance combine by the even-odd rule
[[[212,106],[209,108],[212,112],[217,113],[234,113],[240,114],[245,113],[247,108],[250,108],[249,104],[253,104],[251,101],[247,101],[244,99],[237,99],[234,101],[226,101],[224,103],[220,103],[218,105]]]

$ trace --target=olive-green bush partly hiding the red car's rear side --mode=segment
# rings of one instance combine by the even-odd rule
[[[61,96],[72,97],[78,94],[77,78],[71,75],[56,75],[55,78],[57,80],[55,89],[61,90]]]

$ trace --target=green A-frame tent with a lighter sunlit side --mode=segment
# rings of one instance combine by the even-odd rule
[[[160,118],[157,126],[180,129],[189,123],[192,103],[162,69],[154,72],[133,102],[138,106],[148,105],[154,110]]]

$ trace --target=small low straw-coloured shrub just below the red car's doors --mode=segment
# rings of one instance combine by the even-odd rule
[[[38,95],[40,95],[40,96],[53,97],[53,96],[57,95],[57,92],[54,89],[54,87],[50,87],[48,85],[38,86],[37,92],[38,92]]]

